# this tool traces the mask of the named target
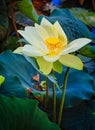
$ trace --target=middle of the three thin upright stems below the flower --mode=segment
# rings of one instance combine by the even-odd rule
[[[56,88],[54,83],[52,83],[52,90],[53,90],[53,121],[56,122]]]

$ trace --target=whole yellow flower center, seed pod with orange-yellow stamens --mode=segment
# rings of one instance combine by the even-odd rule
[[[49,50],[48,55],[51,57],[58,55],[66,46],[66,43],[56,37],[47,38],[45,44]]]

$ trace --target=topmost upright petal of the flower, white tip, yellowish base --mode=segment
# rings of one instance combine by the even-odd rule
[[[47,31],[49,37],[58,37],[54,26],[45,18],[42,19],[41,26]]]

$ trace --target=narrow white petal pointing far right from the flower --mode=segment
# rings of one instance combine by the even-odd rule
[[[67,48],[62,52],[62,54],[68,54],[71,52],[75,52],[90,42],[91,42],[91,40],[88,38],[76,39],[67,45]]]

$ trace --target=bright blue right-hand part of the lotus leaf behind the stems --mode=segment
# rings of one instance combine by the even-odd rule
[[[58,75],[59,84],[62,86],[64,79],[65,69],[63,70],[63,76]],[[62,89],[61,89],[62,90]],[[69,72],[65,107],[72,107],[78,105],[83,100],[91,99],[94,93],[93,79],[84,71],[78,71],[71,69]],[[58,98],[61,98],[60,92],[57,94]]]

